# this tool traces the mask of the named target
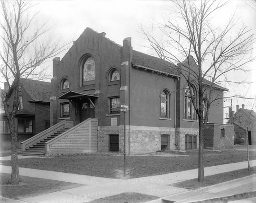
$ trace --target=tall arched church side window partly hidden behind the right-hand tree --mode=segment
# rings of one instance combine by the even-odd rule
[[[184,97],[184,119],[187,120],[196,120],[196,112],[192,103],[192,98],[196,103],[196,91],[195,87],[191,85],[192,92],[190,92],[189,88],[185,89],[185,97]]]

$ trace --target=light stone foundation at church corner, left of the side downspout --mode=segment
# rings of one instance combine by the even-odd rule
[[[161,150],[161,135],[169,135],[169,149],[175,150],[174,128],[126,126],[128,154]],[[109,135],[119,134],[119,151],[124,148],[124,127],[98,127],[98,151],[109,151]]]

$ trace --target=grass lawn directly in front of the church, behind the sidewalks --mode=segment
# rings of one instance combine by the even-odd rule
[[[189,156],[172,156],[172,155]],[[149,154],[150,155],[150,154]],[[126,167],[129,177],[147,177],[198,168],[198,150],[187,153],[165,151],[155,153],[159,156],[127,156]],[[168,155],[168,157],[166,157]],[[256,158],[256,152],[250,151],[250,159]],[[247,151],[242,150],[205,150],[204,167],[235,163],[247,160]],[[119,177],[123,169],[123,155],[118,153],[95,153],[52,156],[49,158],[19,159],[19,167],[58,171],[96,177]],[[10,166],[10,161],[0,161]]]

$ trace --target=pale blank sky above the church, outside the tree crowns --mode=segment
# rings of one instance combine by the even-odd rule
[[[239,20],[256,30],[256,3],[253,0],[231,0],[229,5],[221,9],[214,18],[214,23],[225,22],[235,11]],[[141,34],[140,27],[150,26],[152,18],[160,20],[168,12],[171,6],[169,0],[34,0],[37,3],[32,12],[40,11],[37,15],[37,23],[47,22],[47,26],[53,27],[50,35],[61,36],[64,41],[75,41],[86,27],[90,27],[98,33],[105,32],[106,37],[122,45],[126,37],[132,38],[134,50],[143,53],[152,53],[148,48],[149,43]],[[255,45],[256,47],[256,45]],[[66,52],[58,55],[60,58]],[[256,53],[254,53],[256,55]],[[52,59],[47,61],[51,66]],[[250,64],[256,69],[256,63]],[[256,71],[248,74],[247,80],[255,81]],[[232,95],[235,91],[247,95],[256,95],[256,82],[250,87],[229,88]],[[233,98],[233,110],[236,105],[245,104],[250,108],[251,100]],[[225,100],[224,106],[230,105],[230,99]],[[224,108],[228,112],[228,108]]]

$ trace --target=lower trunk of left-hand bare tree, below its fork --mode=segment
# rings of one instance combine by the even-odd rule
[[[18,171],[18,141],[15,129],[15,118],[13,124],[10,125],[11,134],[11,185],[19,184],[19,171]]]

